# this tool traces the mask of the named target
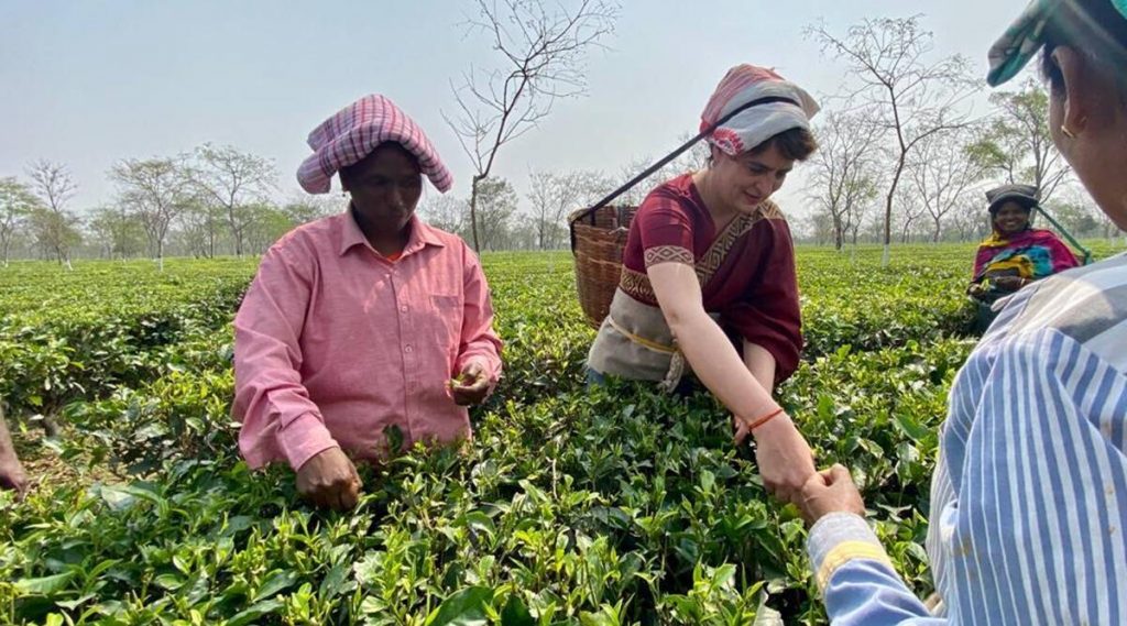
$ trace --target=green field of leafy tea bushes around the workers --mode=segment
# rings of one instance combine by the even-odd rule
[[[879,250],[799,251],[808,346],[781,401],[819,464],[853,470],[921,596],[973,252],[899,248],[881,269]],[[588,392],[569,254],[483,265],[506,376],[473,444],[364,468],[348,515],[239,459],[231,319],[252,260],[0,269],[0,399],[38,482],[0,494],[0,624],[825,623],[802,522],[726,412]]]

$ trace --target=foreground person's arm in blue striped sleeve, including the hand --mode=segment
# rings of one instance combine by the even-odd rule
[[[1127,623],[1127,375],[1056,330],[966,368],[983,382],[973,419],[955,421],[966,432],[947,439],[958,501],[931,519],[950,560],[948,623]],[[825,515],[808,548],[833,624],[925,623],[887,555],[860,545],[876,538],[848,512],[845,479],[809,483],[800,504]]]

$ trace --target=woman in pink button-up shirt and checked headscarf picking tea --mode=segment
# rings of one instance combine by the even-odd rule
[[[502,342],[477,257],[415,216],[424,173],[452,184],[421,128],[367,96],[309,145],[302,187],[327,193],[339,172],[350,203],[263,257],[234,320],[233,413],[251,467],[286,462],[299,492],[343,510],[362,486],[352,459],[385,458],[393,430],[407,447],[470,437]]]

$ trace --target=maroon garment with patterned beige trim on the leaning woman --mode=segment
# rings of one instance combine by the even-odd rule
[[[646,269],[671,261],[694,266],[704,310],[719,313],[725,330],[771,352],[777,382],[793,374],[802,348],[795,248],[774,203],[738,215],[717,233],[692,175],[657,187],[630,226],[620,288],[656,306]]]

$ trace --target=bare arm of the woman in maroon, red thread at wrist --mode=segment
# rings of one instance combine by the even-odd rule
[[[648,269],[654,294],[685,359],[701,382],[736,417],[737,444],[751,422],[780,410],[771,393],[742,363],[728,337],[704,311],[694,269],[663,262]],[[755,429],[760,472],[769,491],[790,500],[814,474],[810,448],[786,413]]]

